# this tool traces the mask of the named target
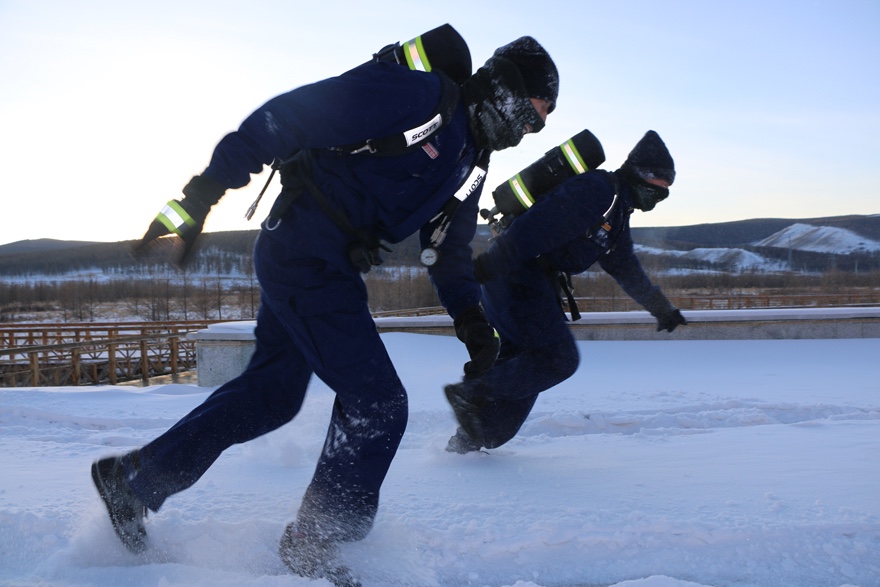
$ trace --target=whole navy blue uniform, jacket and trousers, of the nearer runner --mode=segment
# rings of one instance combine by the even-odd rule
[[[330,148],[381,138],[425,122],[440,98],[436,74],[370,63],[278,96],[217,145],[203,175],[244,186],[273,159],[311,149],[311,176],[356,229],[396,243],[422,230],[465,181],[478,151],[464,107],[430,149],[394,157]],[[291,189],[285,187],[284,189]],[[480,189],[458,208],[431,277],[455,317],[480,301],[469,243]],[[262,299],[256,351],[246,371],[165,434],[126,458],[137,497],[158,510],[201,477],[229,446],[289,422],[313,374],[336,392],[330,427],[298,516],[327,540],[362,538],[407,421],[407,397],[379,338],[361,275],[340,229],[308,193],[264,222],[254,265]],[[139,462],[132,462],[133,460]]]

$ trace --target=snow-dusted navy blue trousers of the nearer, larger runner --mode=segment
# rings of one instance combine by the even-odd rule
[[[233,444],[299,412],[314,373],[336,393],[323,451],[297,515],[301,532],[359,540],[407,422],[407,397],[379,338],[366,288],[333,263],[261,235],[256,350],[247,369],[137,454],[130,484],[151,510],[195,483]]]

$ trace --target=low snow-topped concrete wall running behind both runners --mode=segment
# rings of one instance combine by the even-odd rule
[[[687,326],[657,332],[647,312],[587,312],[571,323],[578,340],[760,340],[880,338],[880,307],[692,310]],[[196,341],[200,386],[221,385],[247,366],[255,322],[212,324],[188,336]],[[383,317],[379,332],[453,335],[449,316]]]

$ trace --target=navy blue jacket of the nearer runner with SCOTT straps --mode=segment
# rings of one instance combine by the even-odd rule
[[[312,150],[312,177],[332,205],[355,228],[397,243],[426,223],[465,181],[478,150],[464,106],[434,135],[433,150],[415,149],[396,157],[339,154],[332,147],[382,138],[424,123],[440,99],[436,74],[410,71],[394,63],[367,63],[338,77],[299,87],[273,98],[247,117],[214,150],[204,175],[228,189],[250,181],[275,158]],[[479,303],[473,278],[470,242],[476,230],[482,187],[462,203],[440,247],[431,278],[449,313],[455,317]],[[315,205],[300,198],[296,222],[285,222],[273,238],[322,258],[347,263],[347,242]],[[266,227],[264,227],[265,229]]]

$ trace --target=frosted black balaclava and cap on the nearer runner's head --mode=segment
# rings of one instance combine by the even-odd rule
[[[462,86],[471,132],[477,146],[500,151],[515,147],[525,135],[544,128],[529,98],[556,103],[559,76],[553,60],[531,37],[495,51]]]

